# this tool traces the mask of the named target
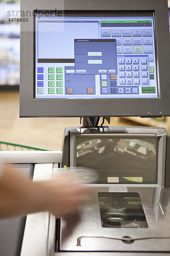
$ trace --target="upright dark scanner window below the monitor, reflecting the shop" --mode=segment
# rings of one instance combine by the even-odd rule
[[[96,170],[97,183],[157,183],[158,137],[81,136],[77,166]]]

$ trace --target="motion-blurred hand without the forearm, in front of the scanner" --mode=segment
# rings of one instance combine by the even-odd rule
[[[47,211],[60,218],[77,211],[91,192],[87,186],[74,182],[71,174],[57,174],[52,180],[43,181]],[[44,194],[44,193],[43,193]]]

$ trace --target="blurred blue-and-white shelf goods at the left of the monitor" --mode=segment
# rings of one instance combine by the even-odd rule
[[[5,4],[3,4],[5,3]],[[20,84],[20,23],[8,22],[8,10],[20,10],[20,1],[1,2],[0,12],[0,86]]]

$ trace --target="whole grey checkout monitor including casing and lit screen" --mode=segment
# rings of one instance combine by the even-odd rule
[[[20,116],[169,116],[167,0],[21,1]]]

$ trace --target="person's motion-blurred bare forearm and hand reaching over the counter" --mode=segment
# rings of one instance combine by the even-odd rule
[[[59,218],[74,212],[87,193],[87,187],[74,183],[67,174],[32,182],[6,164],[0,177],[0,217],[49,211]]]

